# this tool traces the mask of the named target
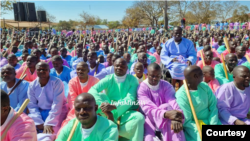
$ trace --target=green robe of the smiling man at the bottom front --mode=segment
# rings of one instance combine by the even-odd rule
[[[70,120],[69,123],[63,127],[56,141],[67,141],[76,120],[76,118]],[[78,122],[71,141],[118,141],[118,129],[115,123],[98,116],[95,124],[94,130],[90,133],[89,137],[83,139],[82,124]]]

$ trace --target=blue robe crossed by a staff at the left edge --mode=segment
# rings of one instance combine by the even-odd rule
[[[19,81],[19,79],[16,78],[16,83]],[[27,98],[27,91],[28,91],[29,83],[25,80],[23,80],[19,86],[11,93],[9,96],[10,98],[10,106],[15,109],[15,111],[18,111],[25,99]],[[0,89],[4,90],[6,93],[9,93],[7,90],[7,83],[1,82],[0,83]],[[10,89],[11,90],[11,89]]]

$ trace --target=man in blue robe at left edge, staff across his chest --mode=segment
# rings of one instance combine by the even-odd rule
[[[15,68],[11,65],[6,65],[1,70],[1,77],[3,82],[0,83],[0,89],[9,93],[15,84],[19,81],[16,78]],[[18,87],[11,93],[10,97],[10,106],[14,108],[15,111],[18,111],[20,106],[23,104],[24,100],[27,98],[29,83],[27,81],[22,81]]]

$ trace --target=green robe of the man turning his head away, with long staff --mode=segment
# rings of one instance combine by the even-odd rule
[[[190,104],[187,98],[184,85],[176,92],[176,101],[183,110],[185,122],[183,124],[187,141],[200,141],[200,136],[193,118]],[[221,125],[217,109],[217,99],[210,87],[201,82],[197,91],[190,91],[190,96],[198,120],[202,120],[206,125]]]

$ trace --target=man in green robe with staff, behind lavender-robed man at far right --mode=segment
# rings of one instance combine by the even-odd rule
[[[227,68],[228,79],[226,78],[226,74],[222,63],[217,64],[214,67],[215,77],[219,81],[220,85],[232,82],[234,80],[232,72],[233,69],[238,64],[238,59],[236,55],[232,53],[227,54],[225,57],[225,64]]]

